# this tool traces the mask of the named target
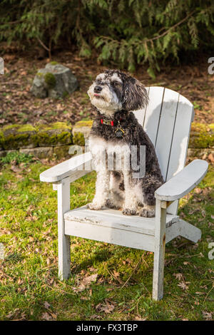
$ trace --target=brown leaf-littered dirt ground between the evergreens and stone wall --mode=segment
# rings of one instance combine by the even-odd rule
[[[1,48],[0,48],[1,50]],[[211,55],[212,56],[212,55]],[[0,75],[0,124],[50,123],[93,118],[95,110],[91,105],[87,90],[93,78],[106,66],[97,61],[79,58],[77,53],[63,51],[53,56],[78,78],[80,88],[67,96],[53,100],[39,99],[31,95],[31,83],[39,68],[44,68],[49,58],[42,60],[35,56],[4,53],[5,73]],[[188,98],[195,107],[195,122],[214,122],[214,74],[208,74],[208,56],[200,56],[200,62],[192,65],[165,66],[151,79],[146,66],[138,67],[136,78],[146,86],[165,86],[178,91]],[[113,66],[109,66],[115,68]]]

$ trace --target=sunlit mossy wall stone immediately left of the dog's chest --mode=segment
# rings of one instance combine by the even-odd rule
[[[85,140],[88,139],[93,120],[82,120],[75,123],[73,126],[73,143],[85,145]]]

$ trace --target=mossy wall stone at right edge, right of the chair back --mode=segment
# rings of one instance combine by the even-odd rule
[[[213,148],[214,147],[214,123],[205,125],[192,123],[189,148]]]

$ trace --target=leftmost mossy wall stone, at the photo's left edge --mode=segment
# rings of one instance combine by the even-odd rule
[[[38,145],[33,125],[5,125],[1,129],[0,145],[4,150],[34,148]]]

